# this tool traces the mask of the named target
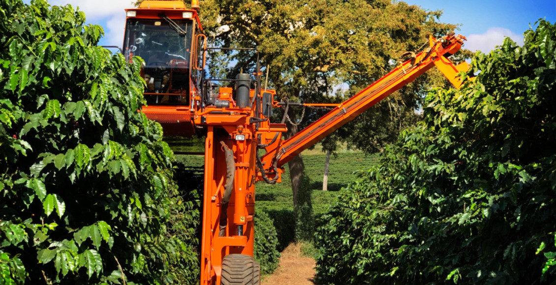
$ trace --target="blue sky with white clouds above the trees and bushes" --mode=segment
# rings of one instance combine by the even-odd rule
[[[28,0],[25,2],[28,3]],[[53,5],[72,4],[87,14],[87,22],[105,29],[101,45],[121,46],[125,12],[131,0],[50,0]],[[556,0],[406,0],[427,10],[443,10],[441,22],[461,24],[457,33],[467,37],[465,48],[488,52],[502,44],[505,36],[519,44],[523,32],[539,18],[556,22]],[[202,17],[202,15],[201,15]]]

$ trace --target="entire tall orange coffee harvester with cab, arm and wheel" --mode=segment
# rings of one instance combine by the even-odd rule
[[[260,267],[252,257],[255,182],[280,182],[282,166],[296,154],[433,66],[459,88],[457,74],[468,65],[455,66],[448,56],[465,38],[430,37],[425,51],[347,101],[330,104],[334,108],[325,116],[283,139],[284,120],[271,123],[270,118],[274,108],[289,103],[277,101],[276,92],[261,85],[255,48],[240,49],[256,54],[254,74],[205,78],[206,52],[216,48],[206,47],[197,11],[197,0],[192,9],[181,1],[143,1],[126,9],[123,53],[127,61],[136,56],[145,61],[141,76],[148,104],[142,112],[159,122],[165,135],[205,137],[201,284],[259,284]],[[227,86],[218,87],[223,82]]]

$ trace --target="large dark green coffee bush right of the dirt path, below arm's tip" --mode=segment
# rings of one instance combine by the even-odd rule
[[[424,122],[342,192],[316,234],[319,284],[554,280],[535,251],[556,249],[556,27],[524,42],[475,54],[474,81],[430,92]]]

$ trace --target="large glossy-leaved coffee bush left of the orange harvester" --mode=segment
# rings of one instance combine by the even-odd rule
[[[0,15],[0,283],[171,282],[168,264],[196,253],[168,221],[195,228],[198,212],[137,112],[141,59],[97,47],[102,28],[71,6],[8,0]]]

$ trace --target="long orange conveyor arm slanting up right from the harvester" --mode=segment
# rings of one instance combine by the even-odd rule
[[[286,139],[284,142],[273,144],[274,149],[267,149],[267,153],[262,157],[265,166],[269,167],[269,169],[266,169],[266,172],[272,173],[273,169],[270,169],[270,166],[281,167],[321,138],[353,120],[360,113],[412,82],[416,77],[433,66],[438,67],[446,78],[456,88],[459,88],[461,82],[458,73],[467,71],[469,66],[465,62],[455,66],[448,59],[448,56],[459,51],[464,40],[463,36],[454,36],[454,34],[449,34],[438,40],[430,37],[430,47],[425,51],[416,55],[413,54],[411,59],[400,64],[400,66],[394,68],[393,71],[378,79],[363,91],[347,99],[347,101],[332,109],[325,116],[302,129],[295,136]]]

